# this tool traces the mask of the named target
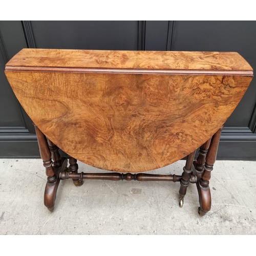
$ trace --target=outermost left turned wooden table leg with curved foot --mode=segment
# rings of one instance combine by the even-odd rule
[[[56,193],[59,185],[58,175],[59,172],[63,170],[65,165],[67,165],[67,160],[65,158],[58,158],[58,154],[53,151],[57,165],[59,164],[59,168],[54,168],[46,136],[38,129],[36,125],[35,131],[38,140],[40,156],[42,162],[44,163],[44,166],[46,167],[47,183],[45,188],[44,203],[48,210],[53,211]]]

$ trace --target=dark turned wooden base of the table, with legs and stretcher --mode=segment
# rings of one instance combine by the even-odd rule
[[[200,207],[198,213],[204,216],[211,208],[210,195],[210,172],[216,161],[218,145],[220,141],[221,131],[224,125],[206,141],[199,150],[197,160],[194,160],[196,151],[187,156],[183,173],[179,175],[152,175],[152,174],[120,174],[120,173],[78,173],[77,160],[73,157],[68,160],[66,157],[60,157],[58,147],[35,126],[40,155],[44,166],[46,167],[47,183],[45,189],[45,206],[53,211],[58,184],[60,180],[73,179],[76,186],[81,186],[85,179],[97,180],[138,180],[138,181],[172,181],[180,182],[180,207],[183,206],[183,200],[189,183],[196,183],[199,195]]]

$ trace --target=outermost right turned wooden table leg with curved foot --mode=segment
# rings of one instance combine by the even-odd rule
[[[204,170],[201,175],[201,179],[197,183],[199,203],[198,213],[200,216],[204,216],[211,208],[211,195],[210,195],[210,173],[213,169],[214,163],[217,157],[218,146],[220,142],[221,132],[224,125],[218,130],[218,132],[212,136],[210,141],[209,150],[206,155],[206,161],[204,164]],[[206,142],[207,143],[207,142]]]

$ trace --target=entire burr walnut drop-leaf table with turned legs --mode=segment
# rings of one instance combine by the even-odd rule
[[[222,125],[253,76],[234,52],[58,49],[23,49],[5,73],[35,124],[50,210],[60,180],[162,180],[180,181],[180,206],[196,183],[200,215],[210,209]],[[138,174],[185,156],[181,176]],[[125,174],[78,173],[77,159]]]

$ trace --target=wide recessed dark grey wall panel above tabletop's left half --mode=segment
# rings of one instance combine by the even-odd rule
[[[138,22],[32,22],[37,48],[137,50]]]

